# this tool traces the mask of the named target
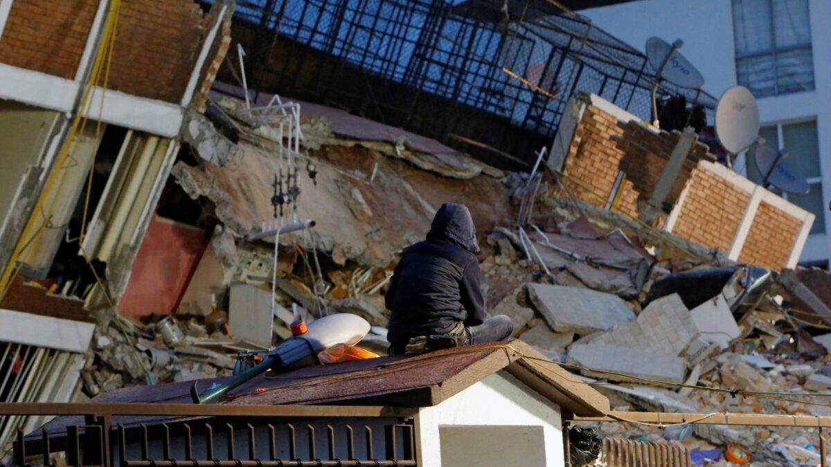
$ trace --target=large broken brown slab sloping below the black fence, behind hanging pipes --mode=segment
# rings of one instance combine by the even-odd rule
[[[241,108],[241,101],[227,96],[216,100],[228,113]],[[336,263],[386,266],[402,247],[424,238],[435,210],[447,201],[466,204],[479,232],[514,217],[504,202],[508,189],[497,178],[499,170],[435,140],[388,132],[386,125],[343,111],[307,104],[302,109],[306,149],[317,175],[298,177],[295,212],[317,223],[315,246]],[[224,164],[180,161],[172,174],[192,198],[213,202],[219,221],[235,236],[259,231],[274,217],[271,199],[280,160],[278,141],[271,138],[262,127],[248,126]],[[297,165],[307,167],[310,161]],[[285,238],[281,242],[311,246],[308,234]]]

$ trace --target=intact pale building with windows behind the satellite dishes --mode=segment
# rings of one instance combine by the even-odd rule
[[[583,11],[598,27],[633,45],[657,36],[681,38],[681,53],[720,96],[746,86],[759,101],[761,130],[770,146],[789,153],[808,180],[806,195],[784,198],[816,216],[799,258],[828,268],[831,257],[831,15],[824,0],[642,0]],[[648,18],[648,21],[647,21]],[[753,158],[735,168],[760,181]]]

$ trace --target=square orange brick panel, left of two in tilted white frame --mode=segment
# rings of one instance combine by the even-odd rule
[[[719,175],[696,168],[672,232],[723,252],[730,250],[750,194]]]

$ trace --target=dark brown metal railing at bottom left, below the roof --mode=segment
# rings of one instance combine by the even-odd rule
[[[392,407],[0,404],[0,414],[83,417],[18,430],[14,465],[56,465],[54,453],[75,466],[416,465],[416,412]]]

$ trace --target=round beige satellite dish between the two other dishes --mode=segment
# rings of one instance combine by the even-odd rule
[[[730,155],[747,150],[759,137],[759,106],[745,86],[731,87],[721,96],[715,135]]]

